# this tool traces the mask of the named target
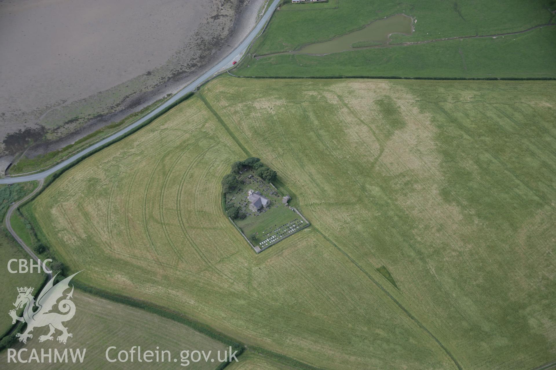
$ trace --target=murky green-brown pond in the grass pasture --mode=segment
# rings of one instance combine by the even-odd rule
[[[330,54],[344,52],[345,50],[357,50],[361,47],[385,45],[390,40],[390,34],[411,34],[412,22],[413,20],[405,14],[396,14],[395,16],[370,23],[359,31],[351,32],[328,41],[310,44],[293,53]]]

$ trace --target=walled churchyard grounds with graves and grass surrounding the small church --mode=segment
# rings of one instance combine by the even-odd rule
[[[284,203],[285,194],[281,194],[271,183],[255,174],[251,169],[241,171],[238,176],[239,186],[226,194],[226,205],[239,207],[240,215],[233,220],[254,247],[261,250],[279,242],[295,232],[309,226],[304,217]],[[250,207],[250,191],[268,199],[270,202],[255,211]],[[257,251],[257,249],[255,248]],[[257,251],[258,252],[258,251]]]

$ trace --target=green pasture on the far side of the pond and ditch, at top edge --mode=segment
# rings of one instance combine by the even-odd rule
[[[294,6],[309,9],[319,5],[291,4],[285,8]],[[329,40],[363,28],[376,19],[399,13],[417,19],[413,35],[404,38],[408,42],[430,40],[432,35],[434,38],[449,38],[516,32],[549,23],[553,14],[548,9],[554,8],[556,3],[552,0],[426,0],[416,4],[339,0],[337,9],[277,11],[265,33],[257,39],[254,49],[258,55],[297,50],[303,45]]]

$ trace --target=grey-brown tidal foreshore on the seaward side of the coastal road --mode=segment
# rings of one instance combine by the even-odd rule
[[[0,173],[175,93],[245,38],[264,3],[0,2]]]

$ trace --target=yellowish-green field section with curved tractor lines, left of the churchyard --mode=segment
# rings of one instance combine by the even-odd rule
[[[261,255],[246,245],[220,185],[245,156],[193,97],[64,173],[32,210],[88,285],[319,367],[450,368],[434,339],[316,230]]]

